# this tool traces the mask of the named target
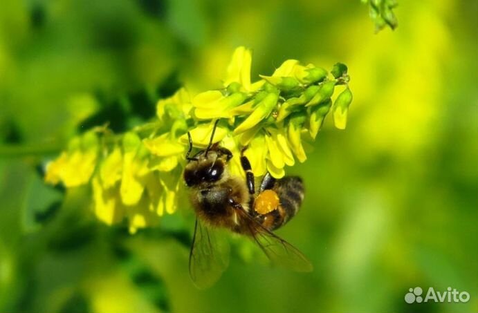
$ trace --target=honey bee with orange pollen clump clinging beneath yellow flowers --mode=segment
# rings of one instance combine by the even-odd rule
[[[210,287],[228,266],[226,239],[210,229],[226,229],[248,236],[272,263],[297,272],[310,272],[309,260],[272,232],[299,211],[304,200],[302,179],[286,176],[276,180],[266,173],[256,189],[250,162],[243,154],[246,148],[240,156],[246,181],[241,176],[232,176],[228,171],[231,151],[219,142],[212,144],[218,121],[207,148],[192,157],[192,137],[187,133],[189,150],[183,177],[196,212],[189,263],[192,281],[197,287]]]

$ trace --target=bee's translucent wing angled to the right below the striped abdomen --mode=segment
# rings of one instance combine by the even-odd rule
[[[250,234],[253,240],[273,264],[292,269],[295,272],[311,272],[313,270],[312,263],[297,248],[266,229],[246,211],[242,211],[241,214],[250,220]]]

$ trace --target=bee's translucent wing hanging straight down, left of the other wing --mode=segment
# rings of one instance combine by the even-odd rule
[[[211,287],[229,265],[229,244],[219,231],[208,229],[196,218],[190,252],[190,276],[200,289]]]

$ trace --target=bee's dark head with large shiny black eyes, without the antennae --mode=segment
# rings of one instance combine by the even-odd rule
[[[194,158],[196,160],[190,160],[184,170],[184,180],[188,187],[221,180],[227,160],[219,151],[208,151],[206,155],[203,150]]]

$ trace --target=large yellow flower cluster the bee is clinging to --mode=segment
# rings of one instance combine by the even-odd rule
[[[335,126],[344,129],[351,102],[347,67],[335,64],[329,75],[312,64],[287,60],[273,75],[251,83],[251,60],[250,50],[237,48],[223,89],[190,95],[181,88],[158,102],[153,121],[128,133],[99,128],[75,137],[48,164],[46,182],[67,188],[91,182],[98,219],[108,225],[127,219],[135,232],[176,210],[187,132],[203,149],[217,120],[213,142],[233,153],[232,175],[244,175],[239,151],[247,147],[255,176],[268,171],[283,177],[285,165],[306,160],[302,142],[315,139],[331,108]],[[332,102],[338,85],[345,88]]]

